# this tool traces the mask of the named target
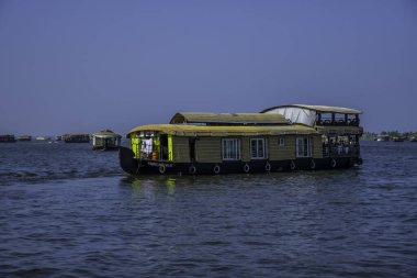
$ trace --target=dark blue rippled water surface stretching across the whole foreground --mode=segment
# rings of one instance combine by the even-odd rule
[[[340,171],[140,178],[87,145],[23,148],[42,163],[0,149],[0,277],[417,276],[417,144],[365,143]]]

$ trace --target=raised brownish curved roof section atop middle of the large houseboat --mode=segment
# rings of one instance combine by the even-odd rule
[[[207,125],[262,125],[289,124],[290,122],[281,114],[181,112],[174,114],[169,123],[203,123]]]

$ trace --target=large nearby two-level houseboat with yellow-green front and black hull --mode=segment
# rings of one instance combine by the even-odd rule
[[[131,130],[131,148],[120,147],[120,163],[131,175],[347,168],[362,163],[359,114],[313,105],[260,113],[177,113],[169,124]]]

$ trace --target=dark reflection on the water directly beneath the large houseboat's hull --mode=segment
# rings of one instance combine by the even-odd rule
[[[237,198],[250,201],[268,192],[263,199],[300,199],[305,196],[327,194],[330,201],[346,199],[354,193],[354,187],[361,184],[360,170],[297,171],[272,174],[241,174],[223,176],[125,176],[120,179],[120,187],[129,191],[132,197],[140,194],[179,198],[201,197],[222,199]],[[227,200],[225,200],[227,202]],[[319,200],[318,200],[319,201]]]

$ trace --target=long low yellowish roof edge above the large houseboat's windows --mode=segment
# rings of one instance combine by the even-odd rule
[[[281,126],[218,126],[218,125],[188,125],[188,124],[149,124],[140,125],[127,133],[127,137],[136,132],[162,132],[177,136],[248,136],[248,135],[282,135],[282,134],[317,134],[316,130],[305,125]]]

